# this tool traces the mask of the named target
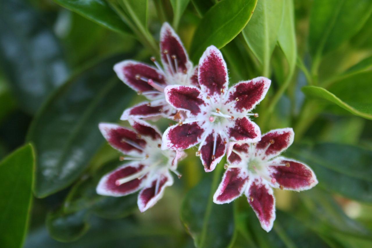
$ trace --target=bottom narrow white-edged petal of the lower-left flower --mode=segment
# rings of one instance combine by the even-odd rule
[[[147,209],[154,206],[155,203],[163,197],[164,189],[172,184],[173,177],[169,172],[156,175],[156,177],[151,180],[148,187],[144,187],[140,191],[140,194],[138,194],[137,204],[140,211],[145,212]]]

